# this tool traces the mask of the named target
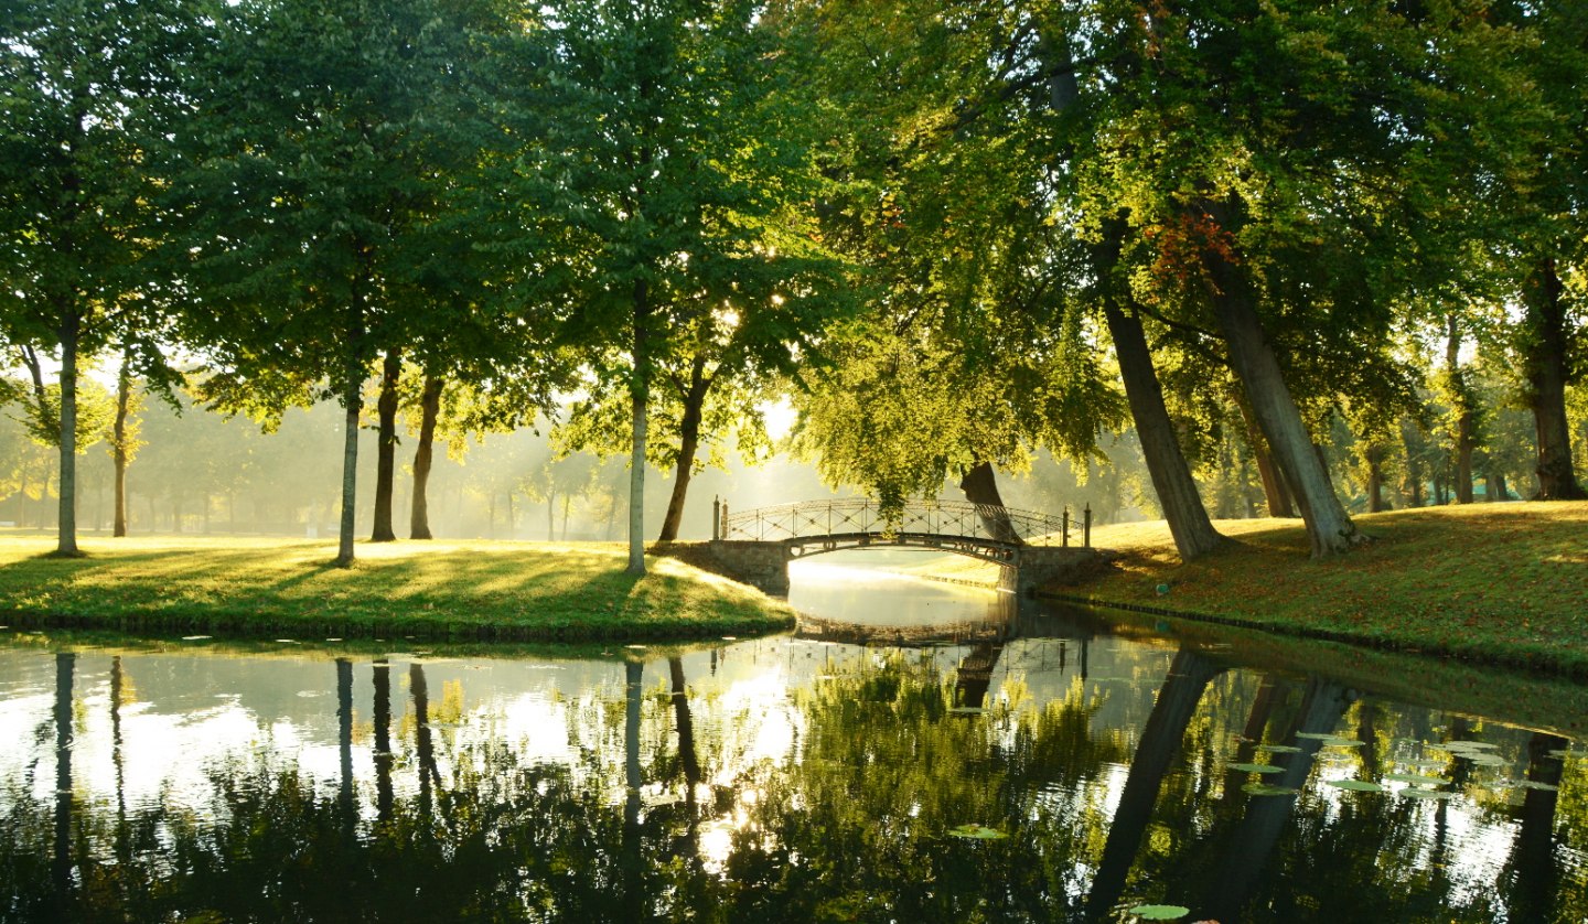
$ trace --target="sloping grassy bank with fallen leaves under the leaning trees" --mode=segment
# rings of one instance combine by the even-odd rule
[[[1067,599],[1139,606],[1588,678],[1588,503],[1358,516],[1377,541],[1307,557],[1299,521],[1221,521],[1237,540],[1180,564],[1162,522],[1100,527],[1118,570]]]

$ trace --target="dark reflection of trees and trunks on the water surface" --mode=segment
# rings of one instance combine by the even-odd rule
[[[575,756],[554,764],[499,735],[438,733],[421,664],[394,735],[391,665],[343,660],[326,676],[337,776],[316,786],[286,754],[238,756],[211,768],[214,818],[127,805],[119,787],[110,810],[73,795],[76,673],[62,656],[40,729],[56,794],[3,795],[0,919],[1051,921],[1169,900],[1226,921],[1523,921],[1588,905],[1580,860],[1561,856],[1563,837],[1582,845],[1582,794],[1547,789],[1569,783],[1559,738],[1515,733],[1539,786],[1493,808],[1510,826],[1501,880],[1461,881],[1442,856],[1447,802],[1316,784],[1393,768],[1397,741],[1431,730],[1420,711],[1181,653],[1150,699],[1108,687],[1151,703],[1132,745],[1099,724],[1102,687],[1077,680],[1040,706],[1007,676],[983,691],[986,654],[961,664],[973,697],[929,653],[832,667],[792,692],[792,748],[757,759],[732,740],[734,716],[702,721],[710,700],[681,659],[665,673],[629,662],[621,686],[570,705]],[[356,670],[375,686],[373,780],[353,775]],[[121,684],[118,660],[118,781]],[[1316,738],[1297,737],[1337,729],[1372,745],[1321,765]],[[1445,733],[1478,732],[1458,719]],[[1285,770],[1266,780],[1299,794],[1240,792],[1226,765],[1256,740],[1301,748],[1270,756]],[[1008,837],[951,834],[967,822]]]

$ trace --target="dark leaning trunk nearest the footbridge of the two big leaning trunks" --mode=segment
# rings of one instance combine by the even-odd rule
[[[1196,479],[1191,478],[1191,467],[1180,451],[1142,319],[1124,311],[1112,298],[1104,300],[1104,318],[1108,322],[1108,337],[1113,338],[1113,352],[1120,360],[1131,419],[1135,421],[1135,433],[1142,440],[1147,473],[1153,479],[1153,491],[1158,492],[1158,505],[1164,510],[1169,533],[1175,538],[1175,551],[1181,560],[1189,562],[1224,545],[1224,537],[1213,529],[1202,495],[1196,489]]]

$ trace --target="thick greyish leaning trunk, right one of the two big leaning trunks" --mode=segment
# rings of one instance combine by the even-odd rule
[[[1223,254],[1208,252],[1213,308],[1229,345],[1229,362],[1245,386],[1258,429],[1274,452],[1280,475],[1301,508],[1312,556],[1326,557],[1364,541],[1336,497],[1329,473],[1313,449],[1312,437],[1291,398],[1278,357],[1258,318],[1255,292],[1243,271]]]

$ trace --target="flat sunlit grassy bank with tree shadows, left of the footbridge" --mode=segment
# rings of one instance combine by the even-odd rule
[[[330,567],[326,541],[122,538],[49,559],[48,538],[0,537],[0,622],[121,632],[302,637],[664,640],[788,629],[757,591],[653,557],[622,573],[616,543],[360,545]]]

